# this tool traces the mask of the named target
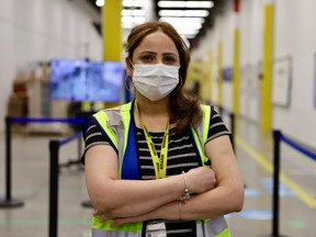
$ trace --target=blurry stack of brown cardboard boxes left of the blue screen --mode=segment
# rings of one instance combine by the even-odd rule
[[[49,65],[38,64],[21,72],[13,81],[8,101],[7,114],[11,117],[63,119],[67,117],[67,101],[52,101],[49,88]],[[26,134],[68,134],[68,124],[32,122],[13,124],[14,131]]]

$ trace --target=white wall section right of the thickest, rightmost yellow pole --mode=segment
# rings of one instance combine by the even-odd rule
[[[316,54],[316,1],[275,1],[274,56],[293,58],[289,108],[274,106],[274,127],[316,147],[316,108],[313,103]]]

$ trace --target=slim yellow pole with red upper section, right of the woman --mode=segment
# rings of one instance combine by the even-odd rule
[[[239,113],[239,30],[234,31],[233,113]]]

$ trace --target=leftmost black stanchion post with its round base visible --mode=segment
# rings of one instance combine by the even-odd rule
[[[12,173],[11,173],[11,119],[5,117],[5,196],[0,200],[0,207],[21,207],[24,203],[12,199]]]

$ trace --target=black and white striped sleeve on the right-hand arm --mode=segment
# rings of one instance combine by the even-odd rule
[[[223,135],[232,136],[232,133],[226,127],[221,115],[213,108],[211,110],[212,110],[212,117],[210,121],[206,143]]]

